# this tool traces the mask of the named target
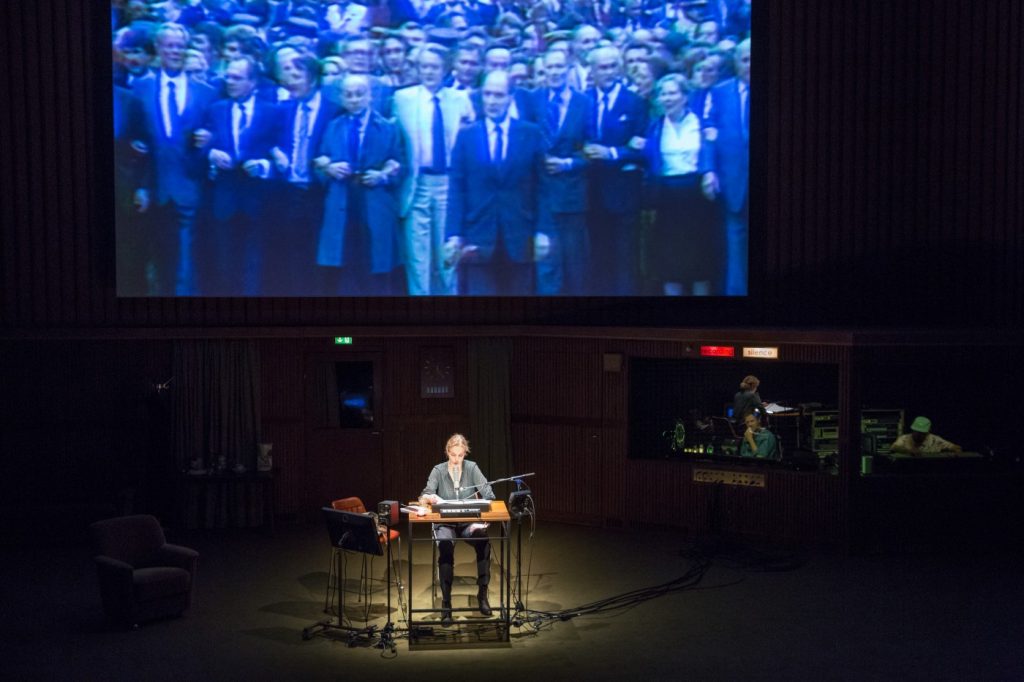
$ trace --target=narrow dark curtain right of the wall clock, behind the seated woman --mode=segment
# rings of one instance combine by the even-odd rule
[[[469,425],[472,459],[488,479],[513,471],[508,339],[469,341]],[[507,489],[505,486],[499,489]],[[499,491],[495,491],[502,497]]]

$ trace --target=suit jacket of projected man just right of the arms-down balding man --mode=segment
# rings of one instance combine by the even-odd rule
[[[547,154],[559,159],[572,159],[572,169],[541,176],[541,205],[550,213],[583,213],[587,210],[587,160],[583,145],[593,134],[594,106],[586,95],[569,90],[571,96],[565,120],[557,130],[548,120],[549,88],[535,90],[532,109],[544,131]]]

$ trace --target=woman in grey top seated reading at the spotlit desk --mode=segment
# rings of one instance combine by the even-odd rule
[[[427,484],[420,494],[420,504],[438,504],[442,500],[468,500],[481,497],[494,500],[495,493],[487,485],[487,479],[475,462],[466,459],[469,441],[461,433],[455,433],[444,445],[447,460],[430,470]],[[490,615],[487,601],[487,584],[490,582],[490,542],[486,526],[481,523],[435,523],[434,539],[437,540],[437,572],[441,584],[441,625],[452,625],[452,582],[455,580],[455,539],[480,538],[470,544],[476,550],[476,587],[479,610],[482,615]]]

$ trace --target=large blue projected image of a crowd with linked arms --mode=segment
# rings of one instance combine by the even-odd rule
[[[744,296],[751,1],[113,0],[119,296]]]

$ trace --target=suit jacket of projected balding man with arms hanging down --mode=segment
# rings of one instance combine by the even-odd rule
[[[532,257],[544,135],[537,125],[513,119],[504,161],[492,164],[486,123],[477,121],[459,132],[452,151],[445,235],[475,245],[482,262],[494,255],[499,233],[511,260]]]

